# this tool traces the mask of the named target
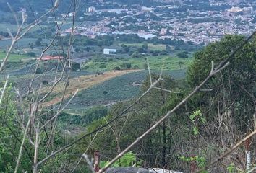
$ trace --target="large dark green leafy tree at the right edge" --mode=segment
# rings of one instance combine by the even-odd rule
[[[227,58],[244,40],[241,35],[226,35],[220,42],[212,43],[195,53],[195,60],[187,72],[187,82],[189,86],[195,87],[208,76],[210,72],[210,62],[220,63]],[[206,107],[218,107],[218,112],[212,110],[208,113],[208,118],[212,119],[214,115],[221,114],[226,119],[223,120],[228,129],[223,128],[221,133],[226,136],[227,133],[234,134],[234,129],[247,132],[247,125],[241,124],[241,120],[249,122],[255,111],[252,109],[252,98],[246,94],[255,93],[256,81],[256,53],[255,38],[244,45],[234,57],[230,60],[230,65],[225,68],[221,74],[214,76],[207,89],[213,89],[213,92],[198,94],[200,99],[195,100],[196,105]],[[227,109],[229,105],[229,109]],[[229,138],[232,143],[232,138]],[[229,144],[229,143],[227,143]]]

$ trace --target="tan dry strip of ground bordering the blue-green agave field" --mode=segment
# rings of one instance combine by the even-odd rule
[[[129,74],[135,71],[140,71],[140,70],[124,70],[124,71],[108,71],[104,72],[101,75],[87,75],[87,76],[80,76],[77,78],[72,78],[69,80],[69,86],[67,86],[67,91],[64,96],[64,99],[67,99],[71,97],[74,92],[79,89],[79,91],[82,91],[83,89],[88,89],[89,87],[95,85],[95,84],[100,84],[103,81],[107,81],[109,79],[112,79],[116,76],[121,76],[124,74]],[[49,88],[44,88],[43,92],[47,92]],[[51,105],[55,105],[59,102],[61,102],[61,97],[64,92],[64,82],[61,82],[58,86],[54,88],[54,91],[52,92],[52,95],[56,95],[51,101],[44,102],[42,107],[49,107]]]

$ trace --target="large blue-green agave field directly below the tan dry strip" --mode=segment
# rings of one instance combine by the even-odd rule
[[[159,71],[152,72],[159,73]],[[171,75],[174,79],[181,79],[184,77],[185,71],[164,71],[163,74]],[[114,79],[82,90],[72,99],[67,107],[67,112],[76,110],[75,112],[82,113],[88,107],[95,105],[111,105],[115,102],[132,99],[140,93],[140,85],[137,85],[137,83],[144,81],[146,76],[148,76],[148,71],[137,71],[117,76]]]

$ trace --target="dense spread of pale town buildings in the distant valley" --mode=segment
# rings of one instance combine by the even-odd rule
[[[168,1],[171,3],[172,0]],[[210,0],[209,4],[214,8],[205,10],[193,8],[182,0],[177,1],[178,5],[147,7],[135,4],[136,8],[120,6],[118,9],[96,9],[95,6],[90,6],[85,9],[85,15],[102,17],[103,12],[116,15],[103,16],[102,20],[97,22],[81,22],[75,27],[74,33],[91,38],[97,35],[137,34],[146,39],[171,38],[200,44],[214,42],[227,34],[249,35],[255,30],[256,9],[253,6],[256,6],[256,1],[252,4],[247,0]],[[221,6],[229,7],[218,8]],[[141,16],[145,19],[141,19]],[[127,18],[132,21],[129,22]],[[128,30],[131,26],[135,29]],[[142,30],[140,26],[146,29]],[[139,29],[136,30],[136,27]],[[63,30],[61,35],[68,35],[70,31]]]

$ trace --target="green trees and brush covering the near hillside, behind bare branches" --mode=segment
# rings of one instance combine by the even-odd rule
[[[162,76],[164,80],[158,82],[155,87],[163,90],[152,89],[136,105],[130,107],[119,117],[116,116],[132,105],[135,100],[114,105],[105,115],[106,117],[98,117],[100,118],[98,120],[95,120],[94,114],[88,114],[87,116],[93,117],[85,118],[88,120],[93,118],[94,121],[90,120],[92,123],[88,124],[86,132],[81,132],[80,136],[83,136],[83,133],[94,133],[83,138],[74,146],[72,145],[68,151],[63,151],[46,161],[39,169],[43,172],[49,172],[51,169],[59,171],[65,169],[69,172],[76,164],[76,155],[84,152],[85,148],[88,148],[86,151],[89,155],[93,154],[95,150],[100,151],[103,161],[119,154],[208,76],[210,61],[214,61],[218,65],[242,43],[242,40],[244,40],[242,36],[229,35],[221,42],[208,45],[195,53],[195,60],[187,71],[186,80],[174,80],[171,76]],[[141,166],[164,167],[187,172],[189,158],[195,156],[198,166],[205,167],[254,128],[252,115],[255,112],[255,98],[253,97],[256,76],[255,44],[254,38],[244,45],[231,57],[229,66],[211,78],[200,92],[197,92],[150,135],[132,148],[132,153],[141,160]],[[158,74],[153,74],[151,77],[155,81],[158,79]],[[150,78],[148,77],[142,83],[140,93],[146,92],[149,87]],[[168,91],[172,91],[171,94]],[[19,133],[20,125],[16,123],[17,115],[21,110],[14,105],[14,97],[9,90],[5,94],[2,103],[4,107],[1,109],[1,138],[4,140],[4,143],[1,144],[1,170],[5,170],[5,172],[12,172],[14,169],[15,162],[12,161],[12,156],[19,152],[17,146],[21,142],[19,138],[22,135]],[[42,117],[43,121],[47,120],[46,115]],[[82,122],[84,121],[77,119],[72,122],[72,125]],[[110,123],[109,127],[106,126],[108,122]],[[97,130],[103,126],[105,128]],[[47,156],[46,149],[50,154],[61,146],[65,146],[65,143],[74,140],[72,136],[64,137],[59,133],[50,147],[47,145],[47,133],[44,134],[42,131],[40,134],[38,160]],[[8,136],[12,137],[7,138]],[[30,161],[33,154],[29,149],[30,141],[26,141],[23,147],[25,153],[22,155],[20,169],[30,170],[33,166]],[[252,148],[255,149],[255,144],[252,144]],[[223,159],[222,164],[211,167],[211,172],[225,172],[231,165],[234,165],[234,169],[237,170],[244,169],[243,153],[244,148],[239,148]],[[77,170],[83,172],[85,167],[85,163],[80,164]]]

